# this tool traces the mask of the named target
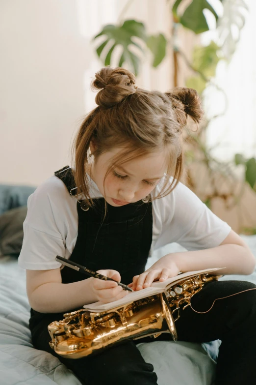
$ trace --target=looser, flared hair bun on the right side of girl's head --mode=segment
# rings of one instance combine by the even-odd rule
[[[165,92],[176,110],[179,123],[184,126],[189,115],[196,123],[199,123],[204,115],[198,92],[193,88],[175,87]]]

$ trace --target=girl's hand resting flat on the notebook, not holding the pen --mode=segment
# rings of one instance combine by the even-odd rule
[[[168,267],[164,267],[161,259],[144,273],[135,275],[132,279],[132,283],[130,283],[128,287],[132,288],[132,290],[145,289],[150,287],[154,281],[159,280],[160,282],[163,282],[167,278],[175,277],[179,274],[180,269],[175,261],[168,261]]]

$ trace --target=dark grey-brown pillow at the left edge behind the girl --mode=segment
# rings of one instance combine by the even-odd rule
[[[0,215],[0,257],[19,257],[23,242],[23,222],[27,207],[16,207]]]

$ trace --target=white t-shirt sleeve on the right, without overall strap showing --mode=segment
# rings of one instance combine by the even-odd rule
[[[173,215],[169,217],[167,207],[173,207]],[[219,246],[231,230],[226,222],[180,182],[162,209],[162,236],[190,251]]]

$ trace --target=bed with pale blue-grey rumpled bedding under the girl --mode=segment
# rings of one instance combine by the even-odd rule
[[[256,256],[256,236],[243,238]],[[177,250],[180,250],[178,244],[157,250],[147,267],[164,254]],[[221,279],[231,277],[256,283],[256,272]],[[15,253],[0,255],[0,385],[80,385],[58,358],[33,348],[25,278],[25,270],[18,266]],[[214,385],[220,343],[219,340],[205,344],[155,340],[139,344],[138,349],[144,359],[154,365],[158,385]]]

